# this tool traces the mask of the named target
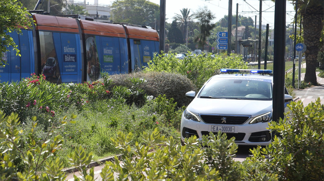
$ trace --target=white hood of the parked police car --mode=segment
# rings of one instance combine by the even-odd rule
[[[194,98],[187,109],[193,113],[261,115],[272,110],[272,100]]]

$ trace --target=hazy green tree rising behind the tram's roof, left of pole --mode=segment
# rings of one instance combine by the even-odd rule
[[[111,5],[113,22],[125,22],[136,25],[152,26],[159,6],[147,0],[114,1]]]

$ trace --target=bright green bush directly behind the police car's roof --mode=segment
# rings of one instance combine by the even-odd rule
[[[201,54],[178,59],[173,54],[159,54],[148,63],[145,72],[176,72],[186,76],[199,89],[222,68],[247,69],[247,64],[237,54],[230,56],[216,55],[215,58]]]

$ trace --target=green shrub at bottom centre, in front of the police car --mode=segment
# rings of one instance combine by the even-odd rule
[[[232,159],[237,145],[234,139],[227,140],[225,134],[211,133],[202,141],[194,136],[179,146],[173,137],[161,136],[155,129],[151,134],[144,132],[145,144],[136,143],[134,149],[129,145],[132,133],[118,132],[117,137],[111,140],[121,150],[121,159],[115,156],[114,162],[106,162],[100,173],[103,180],[276,180],[275,174],[265,174],[264,167],[258,164],[246,163],[249,168],[254,167],[251,172],[240,167]]]

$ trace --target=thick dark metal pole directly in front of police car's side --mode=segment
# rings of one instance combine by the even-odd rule
[[[272,120],[278,122],[285,111],[286,0],[275,1],[274,6]]]

